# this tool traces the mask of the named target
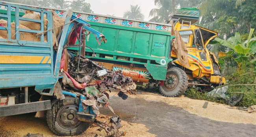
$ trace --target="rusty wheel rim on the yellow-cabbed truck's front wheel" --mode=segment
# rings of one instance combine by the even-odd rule
[[[178,85],[178,77],[175,74],[169,74],[166,76],[164,87],[170,92]]]

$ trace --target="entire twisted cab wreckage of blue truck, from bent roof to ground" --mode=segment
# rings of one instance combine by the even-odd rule
[[[74,20],[76,19],[74,18]],[[89,110],[90,114],[99,116],[99,108],[103,106],[108,106],[111,112],[115,114],[113,108],[109,105],[109,94],[107,91],[117,90],[119,92],[118,96],[125,100],[128,98],[126,93],[134,94],[133,90],[135,90],[136,85],[132,78],[124,76],[121,70],[109,70],[89,58],[85,58],[85,47],[88,47],[85,41],[86,37],[89,40],[90,33],[95,35],[99,45],[102,41],[106,43],[106,39],[103,34],[91,29],[89,23],[81,19],[79,19],[79,22],[82,23],[70,26],[72,29],[67,36],[68,42],[63,47],[60,63],[62,79],[58,81],[56,86],[57,98],[61,98],[58,97],[58,91],[63,90],[80,96],[81,107],[79,106],[77,115],[80,115],[81,111],[88,113]],[[75,44],[77,40],[79,44]],[[72,51],[72,49],[69,49],[70,47],[78,47],[79,52],[75,52],[77,50]],[[95,55],[93,54],[93,56]],[[78,120],[86,121],[86,117],[80,116]],[[119,116],[111,117],[110,122],[111,125],[109,126],[95,119],[96,125],[103,128],[108,136],[120,136],[121,133],[119,133],[118,129],[121,127],[121,120]]]

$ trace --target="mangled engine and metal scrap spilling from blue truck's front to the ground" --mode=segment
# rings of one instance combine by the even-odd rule
[[[115,114],[109,105],[109,95],[106,91],[117,90],[119,97],[124,100],[128,98],[126,93],[134,94],[135,85],[132,78],[124,76],[121,70],[108,70],[103,65],[76,55],[75,52],[63,52],[63,54],[65,54],[63,62],[66,64],[61,70],[61,76],[63,76],[59,81],[61,90],[76,92],[76,95],[81,98],[83,112],[93,111],[98,116],[99,108],[105,106]],[[58,90],[56,89],[56,93]],[[92,110],[88,110],[88,106],[91,106]],[[119,116],[111,117],[110,126],[98,120],[95,121],[108,136],[113,137],[119,137],[123,133],[118,130],[121,127],[120,122]]]

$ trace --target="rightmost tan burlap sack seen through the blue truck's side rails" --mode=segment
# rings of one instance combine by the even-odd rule
[[[34,13],[33,11],[26,11],[26,14],[24,14],[22,17],[23,18],[30,18],[30,19],[35,19],[35,20],[40,20],[41,19],[41,15],[39,13]],[[44,31],[46,31],[47,29],[47,23],[49,21],[46,18],[46,15],[44,15]],[[24,25],[32,30],[37,30],[40,31],[40,23],[37,22],[28,22],[28,21],[24,21],[24,20],[20,20],[19,22],[21,25]]]

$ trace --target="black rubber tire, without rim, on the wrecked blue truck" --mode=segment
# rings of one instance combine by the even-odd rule
[[[57,121],[56,121],[56,115],[59,109],[65,105],[74,104],[77,105],[77,108],[79,106],[79,98],[72,97],[72,96],[65,96],[65,99],[59,100],[54,99],[51,103],[52,109],[47,110],[46,114],[46,121],[48,124],[48,127],[50,130],[59,136],[68,136],[68,135],[80,135],[81,133],[85,132],[87,128],[91,125],[89,122],[82,122],[80,121],[80,124],[72,129],[67,129],[62,127]],[[78,111],[78,110],[77,110]],[[75,115],[76,117],[76,115]]]

